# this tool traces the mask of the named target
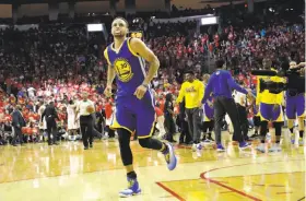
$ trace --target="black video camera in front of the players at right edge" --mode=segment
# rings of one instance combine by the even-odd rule
[[[272,70],[255,70],[251,71],[252,75],[262,75],[262,76],[280,76],[286,78],[286,83],[273,82],[260,79],[259,91],[260,93],[264,90],[268,90],[269,93],[279,94],[283,91],[289,91],[291,95],[296,95],[299,93],[305,93],[305,76],[301,76],[298,70],[299,68],[290,69],[287,61],[281,64],[281,71]]]

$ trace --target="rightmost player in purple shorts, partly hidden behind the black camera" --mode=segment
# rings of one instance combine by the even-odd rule
[[[296,62],[290,62],[290,68],[293,69],[296,67]],[[292,134],[292,142],[295,144],[303,145],[303,135],[305,130],[305,93],[298,93],[295,90],[287,90],[286,91],[286,116],[287,116],[287,128]],[[295,142],[295,135],[293,134],[293,122],[296,119],[298,120],[298,135],[299,142]],[[306,138],[305,138],[306,140]]]

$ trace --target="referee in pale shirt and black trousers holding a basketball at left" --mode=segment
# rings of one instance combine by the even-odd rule
[[[94,103],[89,99],[86,92],[82,94],[82,100],[76,106],[76,120],[79,115],[84,150],[89,150],[89,146],[93,147],[93,130],[96,117]]]

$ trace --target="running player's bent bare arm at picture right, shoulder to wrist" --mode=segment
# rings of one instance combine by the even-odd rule
[[[158,68],[160,68],[160,60],[153,54],[153,51],[145,46],[145,44],[138,38],[130,39],[131,49],[137,52],[140,57],[145,59],[150,63],[149,72],[144,78],[143,84],[148,85],[155,76]]]

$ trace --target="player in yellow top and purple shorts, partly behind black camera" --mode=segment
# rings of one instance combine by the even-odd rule
[[[271,68],[272,61],[269,58],[264,58],[262,60],[262,66],[264,70],[273,70],[275,69]],[[284,121],[283,117],[283,109],[282,104],[284,100],[284,93],[271,93],[269,90],[262,91],[260,88],[260,83],[264,82],[282,82],[284,83],[285,80],[280,76],[258,76],[257,82],[257,98],[256,98],[256,105],[259,107],[259,115],[260,115],[260,141],[261,143],[257,146],[257,150],[260,152],[266,152],[266,134],[268,130],[268,122],[272,121],[273,127],[275,129],[275,143],[272,145],[271,149],[269,149],[269,152],[280,152],[280,140],[282,134],[282,125]]]

